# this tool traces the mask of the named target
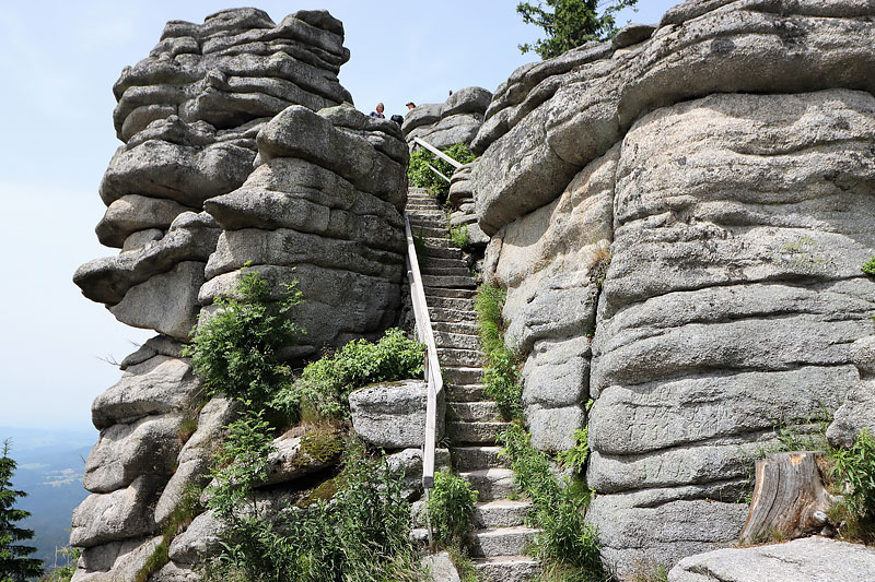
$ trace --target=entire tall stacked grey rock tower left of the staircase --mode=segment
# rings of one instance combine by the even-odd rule
[[[342,43],[342,24],[324,11],[275,24],[259,10],[228,10],[201,25],[168,23],[114,87],[125,144],[101,185],[107,211],[96,230],[120,253],[74,281],[119,321],[159,335],[92,407],[101,437],[85,470],[92,495],[73,513],[77,581],[132,580],[186,489],[205,484],[234,407],[207,399],[179,351],[241,266],[277,293],[294,280],[304,292],[295,317],[307,334],[289,358],[395,322],[408,150],[395,123],[348,105]],[[287,444],[285,461],[300,449]],[[271,486],[299,476],[285,461]],[[198,518],[152,579],[189,579],[217,527]]]

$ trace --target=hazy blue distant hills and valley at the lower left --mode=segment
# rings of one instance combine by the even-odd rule
[[[27,492],[19,508],[31,512],[24,526],[36,534],[30,545],[48,566],[55,549],[67,545],[70,516],[88,496],[82,488],[85,458],[97,440],[95,430],[0,427],[0,440],[12,439],[10,455],[19,468],[13,484]]]

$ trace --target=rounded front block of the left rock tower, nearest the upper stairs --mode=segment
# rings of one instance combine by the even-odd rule
[[[248,263],[276,297],[292,281],[303,292],[298,357],[378,335],[400,310],[408,151],[397,124],[351,107],[289,107],[258,149],[246,182],[206,204],[224,231],[200,302],[231,293]]]

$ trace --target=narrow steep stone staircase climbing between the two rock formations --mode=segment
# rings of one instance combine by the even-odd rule
[[[514,500],[513,472],[495,437],[508,427],[482,385],[482,353],[474,311],[476,283],[462,249],[447,238],[446,215],[427,190],[411,188],[407,212],[418,245],[425,301],[446,390],[450,454],[458,475],[479,491],[471,548],[487,580],[529,580],[537,561],[525,556],[537,530],[523,524],[532,504]]]

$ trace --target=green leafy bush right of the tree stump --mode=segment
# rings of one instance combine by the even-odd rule
[[[850,492],[839,508],[853,537],[875,542],[875,436],[861,430],[850,449],[831,451],[832,477]]]

